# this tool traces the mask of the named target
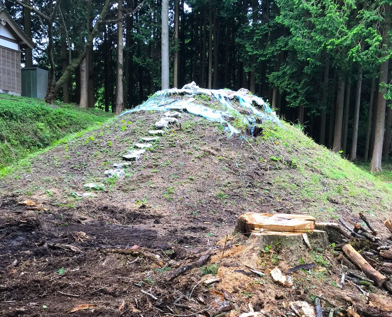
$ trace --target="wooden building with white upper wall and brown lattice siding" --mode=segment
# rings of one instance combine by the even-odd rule
[[[0,93],[21,95],[20,49],[34,46],[0,1]]]

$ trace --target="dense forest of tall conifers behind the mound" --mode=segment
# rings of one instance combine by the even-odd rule
[[[5,5],[37,43],[33,53],[24,52],[26,67],[49,70],[48,103],[121,112],[161,86],[195,81],[205,88],[244,87],[320,144],[350,160],[371,158],[373,172],[390,156],[391,2],[5,0]],[[161,77],[167,63],[169,83]]]

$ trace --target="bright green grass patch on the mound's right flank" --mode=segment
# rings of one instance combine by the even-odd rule
[[[283,147],[285,153],[279,160],[281,162],[270,157],[269,164],[290,166],[288,173],[279,173],[274,179],[274,187],[286,193],[291,191],[298,200],[313,201],[314,205],[307,207],[306,211],[314,216],[334,217],[336,210],[328,206],[328,200],[348,205],[354,213],[359,208],[381,211],[382,214],[388,211],[388,204],[392,203],[390,163],[386,162],[384,171],[374,175],[368,171],[367,165],[357,166],[349,162],[286,122],[281,126],[263,124],[263,135],[257,138],[257,143],[265,142],[275,144],[278,151]],[[382,197],[381,202],[376,203],[377,197]],[[362,204],[364,202],[366,206]]]

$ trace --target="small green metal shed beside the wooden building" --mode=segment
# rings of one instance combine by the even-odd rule
[[[47,70],[38,67],[22,68],[22,96],[45,99],[48,76]]]

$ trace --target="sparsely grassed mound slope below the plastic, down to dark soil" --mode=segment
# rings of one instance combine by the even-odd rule
[[[13,171],[0,187],[54,209],[81,212],[85,201],[125,210],[144,205],[151,213],[231,213],[234,218],[262,211],[354,220],[362,211],[381,220],[391,211],[392,186],[285,122],[261,124],[257,137],[244,132],[245,138],[228,138],[221,124],[183,113],[182,130],[169,129],[126,169],[125,177],[105,177],[104,171],[121,162],[162,115],[130,113],[77,135]],[[26,178],[28,186],[21,186]],[[104,183],[105,189],[79,197],[89,182]]]

